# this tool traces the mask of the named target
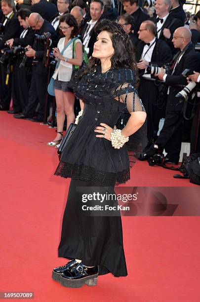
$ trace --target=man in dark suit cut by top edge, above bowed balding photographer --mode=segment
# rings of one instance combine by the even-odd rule
[[[40,16],[47,21],[50,21],[57,13],[55,4],[46,0],[31,0],[31,4],[30,10],[40,14]]]

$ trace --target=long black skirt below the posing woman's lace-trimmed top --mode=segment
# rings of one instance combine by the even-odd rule
[[[82,205],[91,205],[82,202],[84,187],[89,193],[97,187],[98,191],[105,192],[105,187],[93,182],[72,179],[70,183],[67,204],[62,222],[61,240],[58,247],[58,256],[67,259],[80,259],[86,266],[99,266],[99,275],[112,273],[114,276],[126,276],[126,263],[123,250],[121,217],[113,214],[97,214],[94,211],[84,214]],[[114,188],[109,193],[114,194]],[[109,201],[116,205],[117,201]],[[106,202],[107,204],[109,203]],[[95,203],[96,204],[96,203]],[[99,203],[100,204],[100,203]],[[103,203],[101,203],[103,204]],[[98,211],[99,213],[99,211]],[[100,216],[101,215],[101,216]],[[109,216],[105,216],[109,215]]]

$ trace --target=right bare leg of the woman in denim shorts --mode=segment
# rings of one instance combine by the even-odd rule
[[[63,92],[64,97],[64,110],[67,115],[67,129],[71,123],[75,121],[75,113],[74,113],[74,102],[75,95],[72,92],[66,91]]]

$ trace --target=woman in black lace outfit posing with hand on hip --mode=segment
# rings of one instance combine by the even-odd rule
[[[90,209],[85,213],[83,205],[104,203],[95,198],[84,203],[82,196],[114,194],[114,186],[130,178],[128,136],[132,151],[141,151],[146,144],[142,126],[146,113],[135,89],[130,38],[119,24],[105,19],[95,31],[93,58],[71,80],[83,113],[55,172],[72,179],[58,248],[58,256],[70,262],[52,272],[52,278],[67,287],[95,285],[98,275],[110,272],[127,275],[120,213]],[[125,127],[115,129],[125,119]],[[116,206],[117,201],[106,200],[106,204]]]

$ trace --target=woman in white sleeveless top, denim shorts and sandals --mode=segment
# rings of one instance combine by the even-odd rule
[[[53,49],[53,54],[59,63],[52,76],[57,106],[57,136],[52,142],[47,143],[47,146],[55,148],[59,148],[63,138],[65,115],[67,116],[67,128],[75,121],[75,95],[73,90],[68,87],[68,83],[72,77],[73,65],[82,65],[82,43],[79,38],[76,38],[79,30],[76,19],[71,14],[64,14],[60,17],[59,27],[65,37],[61,38],[58,47]],[[75,56],[73,56],[74,43]]]

